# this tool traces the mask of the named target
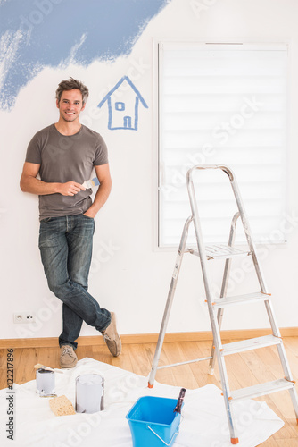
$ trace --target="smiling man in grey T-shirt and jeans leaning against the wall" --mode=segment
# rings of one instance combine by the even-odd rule
[[[94,218],[112,186],[103,138],[79,122],[87,97],[79,80],[62,80],[56,90],[59,120],[29,142],[20,182],[22,191],[39,196],[41,259],[50,290],[63,302],[61,367],[77,364],[75,341],[83,321],[103,333],[113,356],[121,350],[115,315],[87,292]],[[100,186],[92,203],[92,190],[83,183],[94,167]]]

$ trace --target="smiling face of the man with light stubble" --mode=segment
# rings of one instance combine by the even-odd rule
[[[79,121],[79,114],[85,109],[82,94],[79,89],[66,90],[62,92],[60,102],[56,101],[60,116],[66,122]]]

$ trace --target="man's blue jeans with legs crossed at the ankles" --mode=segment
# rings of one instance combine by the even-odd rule
[[[59,345],[78,343],[83,321],[102,332],[111,313],[87,292],[95,221],[86,215],[49,217],[40,223],[39,249],[49,289],[62,300]]]

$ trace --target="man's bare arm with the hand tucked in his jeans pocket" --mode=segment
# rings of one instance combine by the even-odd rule
[[[87,215],[87,217],[95,217],[100,208],[103,207],[103,205],[107,201],[112,188],[112,179],[109,164],[101,164],[100,166],[95,166],[95,172],[100,185],[95,194],[95,200],[93,204],[87,209],[86,213],[84,213],[85,215]]]

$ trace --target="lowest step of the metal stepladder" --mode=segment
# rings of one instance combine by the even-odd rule
[[[243,401],[244,399],[253,399],[255,397],[264,396],[271,392],[278,392],[294,388],[294,383],[286,379],[278,379],[264,384],[249,386],[248,388],[240,388],[231,392],[233,401]]]

